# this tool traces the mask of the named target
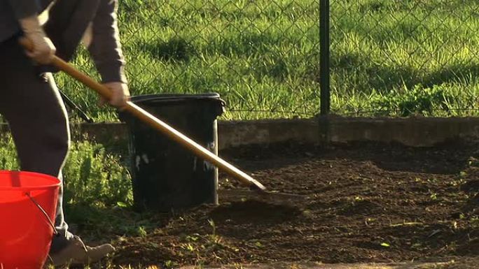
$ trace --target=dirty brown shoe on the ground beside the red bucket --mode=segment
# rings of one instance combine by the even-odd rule
[[[114,251],[115,248],[110,244],[99,245],[98,247],[85,246],[82,240],[75,235],[67,247],[48,256],[44,268],[64,265],[83,266],[95,263]]]

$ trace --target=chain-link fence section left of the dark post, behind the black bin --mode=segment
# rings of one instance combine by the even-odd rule
[[[133,95],[217,92],[223,119],[319,111],[317,1],[120,0],[118,15]],[[95,73],[86,52],[75,62]],[[114,119],[94,108],[95,94],[59,81],[93,118]]]

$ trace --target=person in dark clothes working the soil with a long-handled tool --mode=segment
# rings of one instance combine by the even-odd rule
[[[21,170],[62,180],[70,143],[67,111],[50,66],[53,55],[70,61],[81,41],[95,62],[102,83],[112,92],[109,103],[125,106],[125,59],[119,42],[118,0],[0,0],[0,114],[8,122]],[[25,36],[34,45],[25,51]],[[83,265],[114,251],[109,244],[89,247],[68,230],[57,205],[49,264]]]

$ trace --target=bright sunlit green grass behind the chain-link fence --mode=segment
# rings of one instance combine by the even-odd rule
[[[477,115],[478,8],[459,0],[331,1],[333,112]],[[119,18],[134,95],[218,92],[228,103],[223,119],[319,111],[317,1],[122,0]],[[84,50],[74,62],[95,74]],[[95,94],[57,78],[89,115],[117,119],[97,108]],[[426,110],[424,100],[414,103],[422,89],[440,92],[426,97]]]

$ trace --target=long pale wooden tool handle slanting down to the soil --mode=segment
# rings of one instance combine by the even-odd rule
[[[33,43],[27,38],[20,38],[20,44],[27,50],[33,50]],[[76,70],[76,68],[71,66],[71,64],[68,64],[66,61],[60,59],[57,56],[54,56],[51,64],[53,64],[53,66],[57,67],[61,71],[64,71],[65,73],[71,75],[71,77],[75,78],[76,80],[82,82],[90,89],[94,89],[99,95],[104,97],[104,99],[111,99],[111,92],[107,87],[101,85],[95,80],[92,80],[92,78],[90,78],[88,75],[85,75],[84,73],[81,73],[80,71]],[[141,121],[145,122],[157,131],[160,131],[160,133],[164,133],[172,140],[175,140],[177,143],[180,143],[184,147],[188,148],[188,150],[196,154],[198,157],[209,161],[210,163],[213,163],[216,167],[220,168],[221,170],[224,170],[226,173],[228,173],[232,177],[235,177],[237,180],[240,180],[242,184],[245,184],[252,189],[256,189],[258,191],[265,191],[266,188],[263,186],[263,184],[255,180],[253,177],[250,177],[242,170],[236,168],[235,166],[232,166],[227,161],[224,161],[220,157],[216,156],[216,154],[213,154],[201,145],[195,143],[195,141],[183,135],[183,133],[176,131],[176,129],[172,128],[172,126],[169,126],[165,122],[162,122],[160,119],[154,117],[150,113],[146,112],[146,110],[140,108],[131,101],[127,101],[127,104],[123,108],[123,110],[130,112],[135,117],[141,119]]]

